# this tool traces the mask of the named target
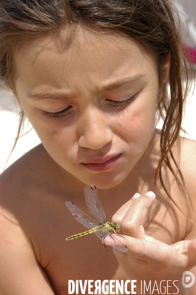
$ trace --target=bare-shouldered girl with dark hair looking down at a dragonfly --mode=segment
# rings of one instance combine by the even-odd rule
[[[0,77],[42,142],[0,177],[2,295],[68,294],[77,279],[195,294],[182,280],[196,275],[196,144],[179,139],[192,76],[177,20],[168,0],[0,1]],[[64,203],[86,211],[89,182],[127,253],[64,241],[84,231]]]

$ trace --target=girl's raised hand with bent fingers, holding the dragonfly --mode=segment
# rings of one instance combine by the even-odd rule
[[[153,283],[155,280],[180,282],[182,273],[196,265],[196,239],[168,245],[151,236],[146,236],[141,224],[147,208],[154,200],[153,192],[147,192],[143,196],[135,194],[114,214],[112,221],[121,225],[121,231],[125,235],[117,236],[117,238],[128,248],[127,253],[114,249],[114,254],[120,266],[132,280],[145,280],[145,282],[151,280]],[[104,239],[106,245],[112,246],[111,241],[112,239],[109,244],[107,237]],[[174,293],[176,292],[175,288]]]

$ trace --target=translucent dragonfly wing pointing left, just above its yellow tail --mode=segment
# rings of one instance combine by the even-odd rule
[[[72,215],[78,215],[75,219],[82,223],[87,229],[91,229],[94,226],[98,226],[99,223],[92,219],[90,216],[85,214],[78,206],[76,206],[72,202],[66,202],[65,205],[69,209],[69,211],[72,213]]]

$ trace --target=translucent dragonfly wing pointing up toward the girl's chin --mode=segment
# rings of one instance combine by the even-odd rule
[[[86,205],[93,216],[97,218],[99,223],[106,222],[106,214],[102,208],[96,186],[92,183],[84,186],[84,196]]]

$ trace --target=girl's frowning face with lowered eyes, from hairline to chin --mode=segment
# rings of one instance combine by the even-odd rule
[[[65,174],[109,188],[130,174],[152,138],[157,63],[120,33],[65,34],[16,52],[16,93]]]

